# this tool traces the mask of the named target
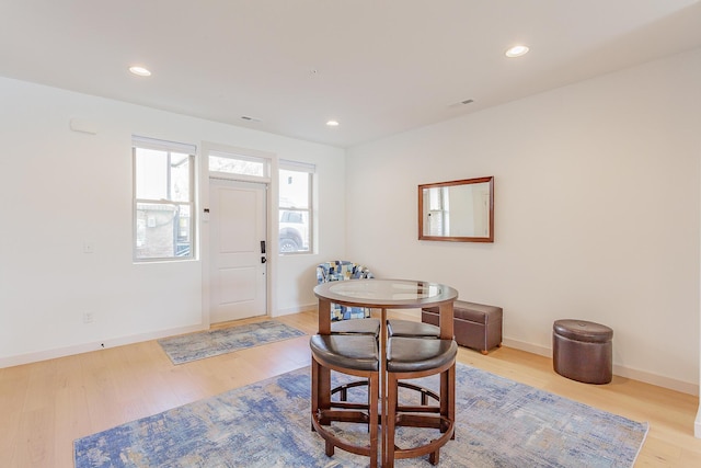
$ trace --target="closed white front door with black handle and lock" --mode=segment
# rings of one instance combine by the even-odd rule
[[[266,206],[265,184],[209,180],[212,323],[267,313]]]

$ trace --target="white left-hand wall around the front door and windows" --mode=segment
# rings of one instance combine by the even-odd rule
[[[272,259],[273,315],[313,305],[313,266],[345,248],[342,149],[4,78],[0,103],[0,367],[202,328],[200,261],[131,262],[133,134],[317,164],[333,209],[318,254]]]

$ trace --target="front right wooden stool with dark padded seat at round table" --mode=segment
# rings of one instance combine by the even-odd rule
[[[384,466],[392,467],[395,458],[414,458],[429,454],[429,461],[436,465],[439,450],[449,440],[455,438],[455,384],[456,355],[458,345],[455,340],[434,338],[392,336],[387,344],[387,449]],[[429,407],[424,401],[424,389],[400,383],[400,379],[415,379],[440,374],[438,406]],[[402,385],[404,384],[404,385]],[[399,404],[399,388],[405,387],[422,391],[422,404]],[[433,427],[441,435],[429,443],[400,448],[395,446],[395,426]]]

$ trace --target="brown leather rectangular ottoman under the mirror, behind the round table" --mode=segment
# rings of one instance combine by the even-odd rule
[[[482,354],[487,354],[493,347],[502,345],[504,310],[501,307],[456,300],[452,311],[453,333],[459,345],[478,350]],[[438,307],[422,309],[421,320],[424,323],[437,326],[439,323]]]

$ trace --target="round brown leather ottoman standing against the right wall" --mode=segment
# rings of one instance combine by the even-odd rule
[[[585,384],[608,384],[613,375],[613,330],[586,320],[555,320],[552,364],[558,374]]]

